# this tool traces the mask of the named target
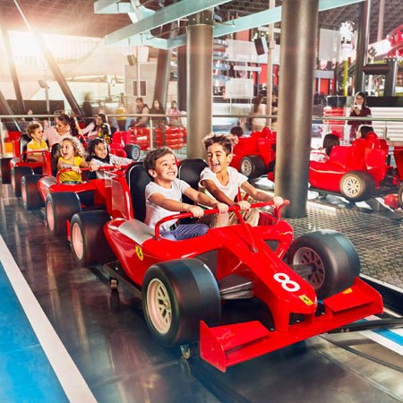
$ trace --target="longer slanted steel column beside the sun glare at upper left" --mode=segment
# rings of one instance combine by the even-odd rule
[[[63,73],[60,71],[59,66],[56,64],[56,61],[52,56],[52,54],[50,53],[49,49],[47,49],[45,41],[42,39],[37,30],[34,30],[33,27],[30,26],[30,21],[28,21],[27,14],[22,8],[20,2],[18,0],[14,0],[14,4],[16,5],[18,11],[21,13],[22,20],[25,22],[28,29],[31,31],[33,37],[37,41],[43,56],[47,59],[47,64],[49,65],[50,70],[52,71],[56,81],[58,82],[60,89],[63,91],[65,99],[67,99],[67,102],[70,104],[73,113],[75,115],[84,116],[84,114],[81,111],[81,107],[79,106],[79,104],[77,103],[77,101],[73,96],[72,90],[70,90],[67,82],[64,79]]]

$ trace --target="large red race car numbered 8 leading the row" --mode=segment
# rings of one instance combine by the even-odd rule
[[[134,292],[141,292],[147,326],[160,343],[199,342],[201,357],[226,371],[382,312],[382,297],[358,278],[356,250],[339,232],[316,231],[293,241],[293,229],[280,219],[280,208],[272,214],[262,211],[260,225],[250,227],[233,206],[239,225],[171,241],[159,236],[159,226],[190,213],[163,219],[151,230],[142,222],[149,182],[141,165],[130,167],[126,178],[113,178],[108,210],[74,214],[70,239],[81,266],[112,261],[112,272],[124,270]],[[214,213],[217,210],[206,211]],[[244,319],[221,322],[223,301],[247,298],[259,298],[267,306],[270,327]]]

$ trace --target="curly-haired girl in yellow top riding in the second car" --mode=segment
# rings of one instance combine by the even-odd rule
[[[80,184],[81,167],[93,167],[83,158],[84,150],[80,141],[76,137],[65,137],[58,152],[60,157],[57,160],[57,169],[72,169],[60,174],[59,181],[64,184]]]

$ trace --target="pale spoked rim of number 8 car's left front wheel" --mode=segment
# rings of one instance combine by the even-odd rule
[[[159,279],[152,279],[147,289],[150,321],[159,334],[166,334],[172,324],[171,300],[167,287]]]

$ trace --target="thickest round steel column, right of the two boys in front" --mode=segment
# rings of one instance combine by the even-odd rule
[[[283,2],[275,193],[289,218],[306,215],[317,17],[318,0]]]

